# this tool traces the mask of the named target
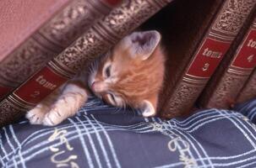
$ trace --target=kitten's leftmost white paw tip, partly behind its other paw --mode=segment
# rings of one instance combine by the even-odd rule
[[[29,119],[31,124],[41,124],[45,117],[46,110],[47,109],[35,107],[26,113],[25,118]]]

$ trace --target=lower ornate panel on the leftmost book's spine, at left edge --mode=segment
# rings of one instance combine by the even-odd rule
[[[22,47],[9,55],[0,66],[0,83],[8,87],[17,87],[40,69],[55,55],[52,51],[42,50],[35,39],[28,39]]]

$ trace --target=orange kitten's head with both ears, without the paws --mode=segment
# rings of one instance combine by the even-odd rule
[[[143,108],[154,115],[164,76],[160,40],[157,31],[126,36],[93,66],[91,90],[113,106]]]

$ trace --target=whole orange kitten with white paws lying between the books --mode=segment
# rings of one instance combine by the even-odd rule
[[[165,55],[157,31],[134,32],[92,64],[89,76],[82,71],[46,97],[26,118],[32,124],[56,125],[73,116],[87,101],[89,90],[116,106],[139,108],[154,116],[164,78]]]

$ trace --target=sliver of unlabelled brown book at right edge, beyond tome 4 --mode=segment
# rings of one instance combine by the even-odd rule
[[[242,91],[237,96],[237,103],[246,102],[252,98],[256,98],[256,68],[248,78],[246,84],[242,87]]]

